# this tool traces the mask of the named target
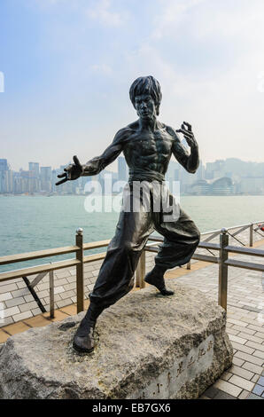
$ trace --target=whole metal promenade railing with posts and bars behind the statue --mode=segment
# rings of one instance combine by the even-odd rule
[[[244,248],[245,244],[240,242],[244,245],[243,248],[229,246],[229,235],[233,238],[236,238],[237,234],[240,232],[245,232],[245,230],[249,229],[249,245],[252,246],[253,244],[253,232],[260,233],[258,228],[254,228],[256,224],[262,224],[263,222],[255,222],[251,224],[243,224],[240,226],[232,226],[229,229],[220,229],[217,231],[212,232],[205,232],[201,233],[202,237],[206,237],[206,240],[202,240],[198,248],[205,248],[211,254],[212,250],[219,252],[219,256],[207,256],[203,254],[195,253],[192,256],[192,259],[219,264],[219,291],[218,291],[218,302],[225,310],[227,310],[227,287],[228,287],[228,267],[234,266],[239,268],[250,269],[254,271],[264,271],[263,264],[253,264],[247,263],[243,261],[237,261],[234,259],[229,259],[229,253],[233,254],[241,254],[247,256],[261,256],[264,257],[264,251],[252,248]],[[233,234],[230,231],[238,229],[238,231],[234,232]],[[260,233],[261,236],[264,238],[264,234]],[[213,240],[216,236],[220,235],[220,243],[212,243],[210,240]],[[149,243],[144,248],[142,256],[140,257],[139,263],[136,269],[136,287],[143,288],[145,286],[144,283],[144,275],[146,269],[146,252],[158,252],[159,247],[157,245],[162,243],[163,239],[155,236],[151,236],[149,238],[152,243]],[[239,240],[238,240],[239,241]],[[29,252],[26,254],[19,254],[19,255],[10,255],[10,256],[2,256],[0,257],[0,265],[5,264],[15,264],[18,262],[27,262],[36,259],[42,259],[44,257],[50,256],[60,256],[66,254],[75,254],[75,258],[68,259],[65,261],[59,261],[50,264],[42,264],[33,267],[23,268],[15,271],[7,271],[0,273],[0,282],[22,278],[27,284],[27,287],[31,294],[34,296],[35,301],[41,307],[41,302],[38,299],[37,295],[35,294],[34,287],[43,279],[45,275],[49,273],[50,277],[50,318],[54,318],[54,271],[58,271],[63,268],[68,267],[75,267],[76,268],[76,293],[77,293],[77,312],[84,310],[84,264],[88,264],[94,261],[99,261],[105,258],[105,252],[90,256],[84,256],[84,252],[87,250],[95,249],[95,248],[104,248],[108,246],[110,240],[102,240],[97,242],[90,242],[90,243],[83,243],[83,236],[82,236],[82,229],[78,229],[76,231],[75,236],[75,245],[69,246],[65,248],[53,248],[53,249],[45,249],[39,250],[36,252]],[[188,269],[190,269],[190,264],[188,265]],[[35,279],[32,282],[29,282],[27,279],[28,276],[36,275]],[[41,309],[42,310],[42,309]],[[42,310],[43,311],[43,310]]]

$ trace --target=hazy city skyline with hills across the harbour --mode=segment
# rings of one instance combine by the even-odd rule
[[[0,193],[85,194],[90,192],[92,184],[87,187],[90,181],[97,181],[101,193],[109,193],[109,184],[112,192],[116,193],[115,183],[118,182],[118,186],[120,186],[120,182],[125,185],[128,181],[128,165],[123,156],[117,159],[117,165],[117,171],[103,169],[96,176],[79,177],[75,181],[68,181],[57,187],[55,184],[58,182],[58,173],[61,173],[66,165],[52,169],[40,166],[39,162],[29,161],[27,170],[14,171],[6,159],[0,159]],[[106,177],[107,185],[105,183]],[[264,162],[228,158],[204,164],[200,160],[197,172],[190,175],[181,164],[170,161],[166,181],[173,193],[262,195],[264,194]],[[178,183],[180,188],[175,183]]]

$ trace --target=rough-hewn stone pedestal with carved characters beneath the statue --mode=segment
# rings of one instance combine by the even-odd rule
[[[231,366],[225,311],[169,280],[130,293],[97,322],[97,345],[75,353],[84,313],[12,336],[0,348],[0,398],[197,398]]]

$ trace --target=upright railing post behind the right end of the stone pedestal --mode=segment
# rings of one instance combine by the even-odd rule
[[[218,287],[218,304],[227,311],[228,306],[228,265],[225,264],[229,257],[228,250],[229,235],[227,229],[221,230],[220,235],[220,260],[219,260],[219,287]]]

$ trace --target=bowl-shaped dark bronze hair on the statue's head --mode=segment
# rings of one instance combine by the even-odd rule
[[[151,95],[158,109],[157,114],[159,114],[159,105],[160,105],[161,98],[162,98],[159,81],[156,80],[151,75],[141,76],[139,78],[136,78],[136,80],[131,85],[130,90],[129,90],[130,100],[132,101],[132,104],[134,107],[135,107],[136,96],[141,96],[142,94]]]

